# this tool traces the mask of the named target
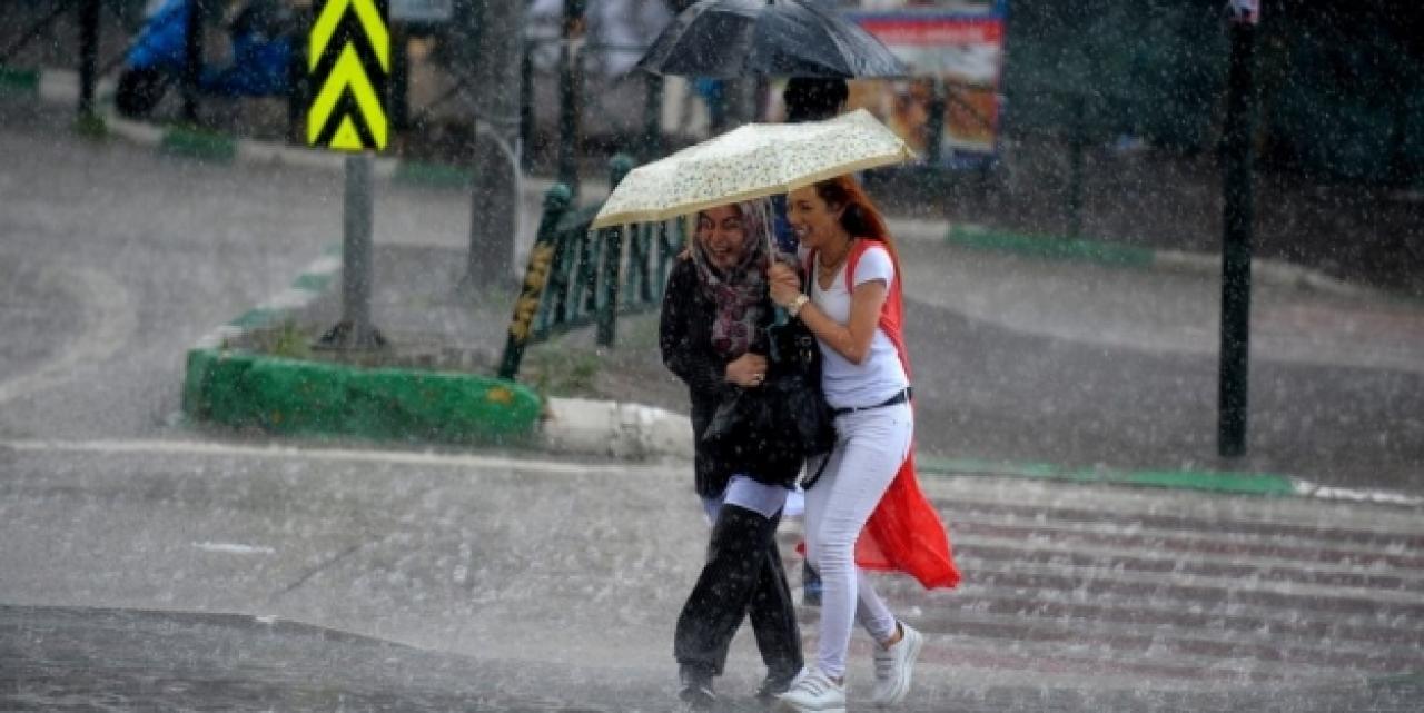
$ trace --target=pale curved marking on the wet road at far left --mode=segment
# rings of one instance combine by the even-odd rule
[[[108,275],[88,268],[46,268],[41,282],[68,292],[83,312],[83,332],[44,366],[0,381],[0,403],[61,384],[85,367],[93,369],[122,347],[138,330],[128,290]]]

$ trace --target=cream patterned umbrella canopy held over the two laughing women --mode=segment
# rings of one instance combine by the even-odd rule
[[[632,169],[592,228],[678,215],[914,158],[866,110],[805,124],[748,124]]]

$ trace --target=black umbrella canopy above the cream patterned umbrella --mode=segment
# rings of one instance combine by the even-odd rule
[[[702,0],[654,40],[638,67],[682,77],[903,77],[860,26],[812,0]]]

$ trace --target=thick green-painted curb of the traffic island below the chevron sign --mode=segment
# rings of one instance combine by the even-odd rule
[[[483,444],[534,435],[541,403],[523,384],[476,374],[192,349],[184,413],[288,435]]]

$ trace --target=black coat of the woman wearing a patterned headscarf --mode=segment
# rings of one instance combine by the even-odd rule
[[[773,313],[770,296],[766,296],[765,306],[763,324],[758,324],[750,347],[756,354],[766,354],[763,327],[770,323]],[[676,260],[662,299],[658,336],[662,363],[688,384],[698,494],[708,498],[721,495],[728,481],[738,472],[758,482],[789,488],[795,485],[803,463],[792,444],[786,447],[769,444],[770,447],[758,448],[758,455],[752,458],[733,458],[709,448],[702,440],[718,406],[732,398],[740,389],[726,380],[726,364],[731,360],[712,349],[715,319],[716,305],[702,290],[696,265],[691,259]]]

